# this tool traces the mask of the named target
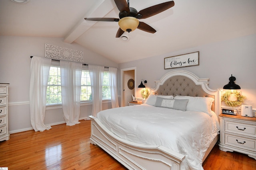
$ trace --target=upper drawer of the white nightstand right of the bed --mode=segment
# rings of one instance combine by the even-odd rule
[[[250,137],[256,137],[256,125],[250,125],[247,123],[226,121],[225,131]]]

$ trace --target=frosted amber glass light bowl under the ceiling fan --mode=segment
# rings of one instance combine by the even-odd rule
[[[140,21],[134,17],[124,17],[118,21],[119,27],[123,31],[127,31],[127,32],[134,31],[138,27],[139,23]]]

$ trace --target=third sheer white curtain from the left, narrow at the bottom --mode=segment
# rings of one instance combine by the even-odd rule
[[[102,111],[102,81],[104,66],[89,65],[92,86],[92,115],[96,117]]]

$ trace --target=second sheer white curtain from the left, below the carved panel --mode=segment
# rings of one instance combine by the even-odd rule
[[[66,125],[79,122],[82,64],[60,61],[62,110]]]

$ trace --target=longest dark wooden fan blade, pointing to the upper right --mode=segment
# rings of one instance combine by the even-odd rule
[[[174,1],[164,2],[162,4],[154,5],[154,6],[145,8],[144,10],[140,10],[136,15],[138,16],[138,19],[145,19],[145,18],[154,16],[156,14],[159,14],[160,12],[163,12],[165,10],[168,10],[173,6],[174,6]]]

